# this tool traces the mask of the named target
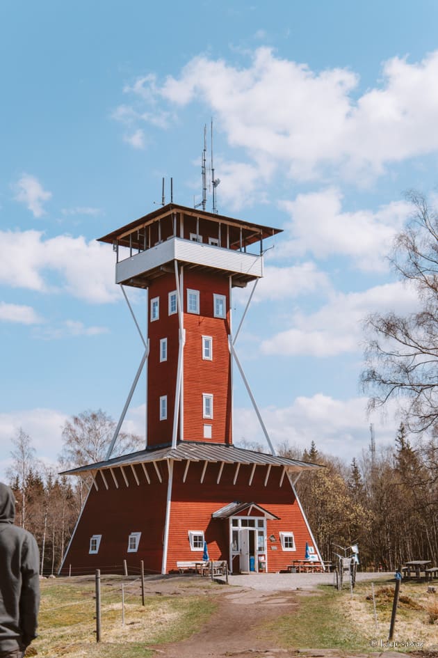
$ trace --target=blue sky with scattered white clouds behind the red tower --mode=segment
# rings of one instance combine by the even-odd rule
[[[219,212],[284,229],[238,341],[271,438],[347,461],[371,421],[394,440],[392,409],[365,414],[361,323],[415,308],[386,255],[404,191],[435,194],[437,19],[425,0],[3,0],[0,472],[20,427],[54,462],[72,414],[118,418],[141,343],[95,239],[154,210],[163,176],[200,200],[211,117]],[[235,440],[261,441],[238,383],[235,405]]]

